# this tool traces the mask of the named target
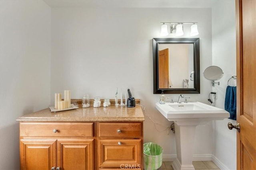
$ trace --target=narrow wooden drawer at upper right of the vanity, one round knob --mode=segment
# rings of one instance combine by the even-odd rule
[[[141,123],[99,123],[99,137],[141,137]]]

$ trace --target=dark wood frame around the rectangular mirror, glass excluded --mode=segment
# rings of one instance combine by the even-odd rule
[[[159,88],[158,82],[158,45],[193,44],[194,49],[194,88]],[[200,94],[200,43],[199,38],[153,38],[153,77],[154,94]]]

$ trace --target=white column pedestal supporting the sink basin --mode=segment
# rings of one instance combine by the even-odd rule
[[[194,150],[195,131],[198,122],[174,121],[177,158],[172,162],[174,170],[195,170],[192,159]]]

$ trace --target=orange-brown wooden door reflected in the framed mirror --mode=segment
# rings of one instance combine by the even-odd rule
[[[169,88],[169,49],[159,51],[159,88]]]

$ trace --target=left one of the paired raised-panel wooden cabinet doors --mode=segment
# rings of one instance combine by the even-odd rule
[[[56,165],[56,140],[20,139],[20,169],[50,170]]]

